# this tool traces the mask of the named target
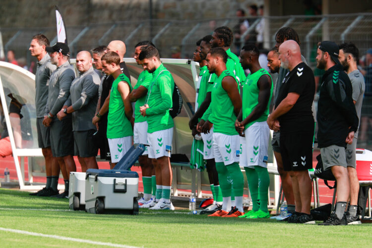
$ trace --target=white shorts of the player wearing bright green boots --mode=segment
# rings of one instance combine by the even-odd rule
[[[261,166],[267,168],[270,129],[266,122],[253,123],[241,139],[240,166]]]

